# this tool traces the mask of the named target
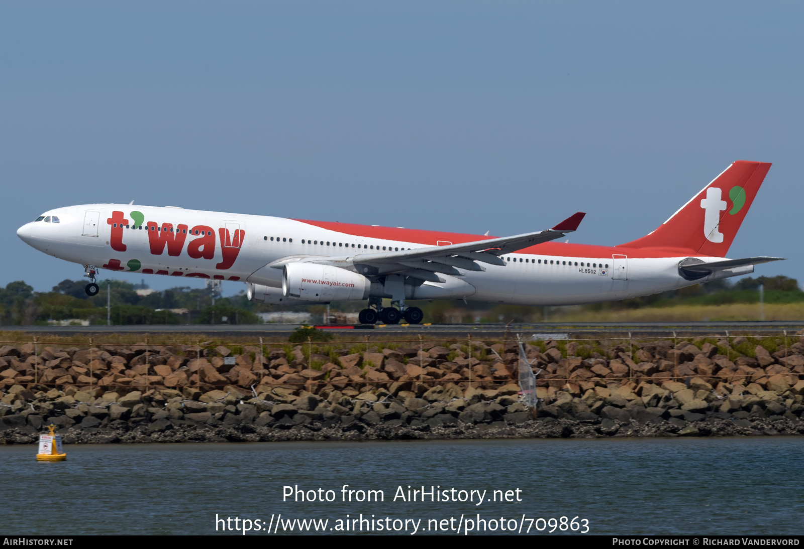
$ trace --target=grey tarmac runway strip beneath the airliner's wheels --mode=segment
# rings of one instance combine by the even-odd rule
[[[36,336],[104,336],[110,334],[186,334],[211,336],[265,336],[272,339],[289,336],[299,324],[185,324],[129,326],[4,326],[0,331],[18,331]],[[506,331],[521,334],[523,339],[547,340],[586,339],[594,337],[674,338],[719,336],[794,336],[804,329],[804,321],[788,322],[688,322],[688,323],[502,323],[378,325],[360,327],[330,324],[322,327],[339,338],[350,336],[404,337],[416,334],[425,338],[464,338],[471,334],[477,339],[503,338]]]

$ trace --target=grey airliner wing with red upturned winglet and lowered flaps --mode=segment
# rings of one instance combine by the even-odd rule
[[[449,246],[427,246],[410,250],[355,254],[343,257],[295,255],[277,259],[277,261],[269,263],[268,266],[281,269],[289,262],[308,261],[340,266],[367,276],[396,273],[410,276],[414,279],[443,283],[444,280],[436,273],[460,276],[462,273],[458,269],[486,270],[485,267],[478,265],[478,262],[505,266],[506,262],[499,257],[500,255],[561,238],[565,234],[576,230],[585,215],[583,212],[578,212],[564,219],[563,222],[560,222],[552,229],[540,230],[535,233],[515,234],[514,236],[503,238],[487,238],[475,242],[464,242],[463,244],[450,244]]]

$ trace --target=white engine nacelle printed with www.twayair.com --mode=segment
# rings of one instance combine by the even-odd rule
[[[288,263],[282,274],[282,292],[307,301],[368,299],[371,281],[363,275],[330,265]]]

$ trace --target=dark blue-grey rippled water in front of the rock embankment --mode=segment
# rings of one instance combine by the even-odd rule
[[[326,532],[334,534],[329,529],[336,520],[363,513],[368,519],[375,514],[375,521],[400,519],[398,526],[420,518],[416,535],[422,535],[434,533],[427,531],[436,524],[429,519],[447,519],[438,524],[449,528],[461,514],[474,520],[479,513],[486,520],[578,516],[588,519],[592,534],[778,535],[801,533],[804,512],[804,437],[65,449],[67,462],[39,463],[35,446],[0,447],[0,533],[215,534],[215,514],[269,523],[281,513],[282,520],[326,518]],[[341,502],[344,484],[347,490],[384,490],[384,502]],[[293,485],[321,487],[324,495],[333,490],[336,499],[282,502],[282,486]],[[486,490],[486,498],[492,490],[519,488],[522,501],[476,506],[474,495],[474,503],[394,502],[397,486],[407,496],[408,485]],[[533,534],[539,532],[531,525]]]

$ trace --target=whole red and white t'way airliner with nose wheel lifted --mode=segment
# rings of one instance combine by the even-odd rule
[[[360,323],[415,324],[423,314],[407,300],[572,305],[752,273],[782,258],[726,254],[769,169],[734,162],[658,229],[618,246],[556,242],[578,228],[581,212],[548,230],[499,238],[133,201],[51,209],[17,234],[84,266],[88,295],[99,291],[100,269],[230,280],[246,283],[259,303],[367,301]]]

